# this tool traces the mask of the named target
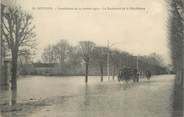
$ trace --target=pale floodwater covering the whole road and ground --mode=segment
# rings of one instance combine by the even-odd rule
[[[17,91],[1,91],[1,117],[183,117],[183,91],[173,75],[139,83],[100,77],[19,78]],[[178,98],[180,97],[180,98]]]

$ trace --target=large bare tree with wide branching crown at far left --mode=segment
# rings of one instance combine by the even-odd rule
[[[29,50],[33,47],[34,26],[33,17],[24,12],[20,7],[8,7],[6,13],[2,15],[2,35],[8,45],[12,56],[12,89],[16,89],[17,83],[17,60],[18,54],[22,50]]]

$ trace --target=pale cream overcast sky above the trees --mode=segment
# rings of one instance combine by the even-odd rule
[[[170,63],[168,9],[164,0],[17,0],[17,3],[34,17],[37,59],[44,47],[61,39],[74,45],[90,40],[99,46],[107,46],[109,40],[111,48],[134,55],[156,52],[165,63]]]

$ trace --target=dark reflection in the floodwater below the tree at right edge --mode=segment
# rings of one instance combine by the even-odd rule
[[[173,113],[172,117],[183,117],[183,101],[184,90],[181,87],[175,86],[173,94]]]

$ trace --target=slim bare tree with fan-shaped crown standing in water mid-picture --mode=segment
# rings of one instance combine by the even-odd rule
[[[82,58],[86,65],[86,72],[85,72],[85,82],[88,82],[88,67],[89,67],[89,61],[93,52],[93,49],[95,47],[95,43],[91,41],[80,41],[79,46],[81,49]]]

